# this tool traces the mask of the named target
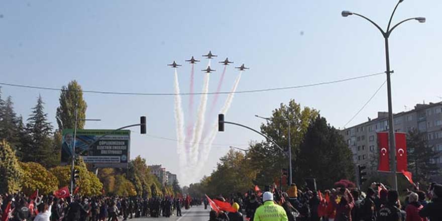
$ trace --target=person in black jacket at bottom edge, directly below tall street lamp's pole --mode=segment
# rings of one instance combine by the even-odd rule
[[[378,221],[403,221],[402,212],[398,207],[399,194],[396,190],[389,190],[387,194],[387,202],[379,209]]]

